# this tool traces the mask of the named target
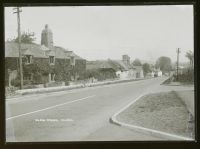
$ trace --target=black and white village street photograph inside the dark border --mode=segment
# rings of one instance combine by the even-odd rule
[[[5,6],[6,142],[194,141],[194,7]]]

